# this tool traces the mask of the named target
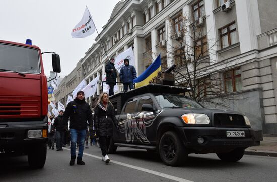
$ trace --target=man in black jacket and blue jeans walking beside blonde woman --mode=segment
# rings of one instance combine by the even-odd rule
[[[79,137],[79,151],[77,156],[77,164],[85,165],[82,161],[84,144],[86,138],[87,121],[89,122],[90,128],[92,128],[92,113],[90,105],[86,103],[85,93],[83,91],[77,92],[76,98],[67,104],[63,119],[67,122],[70,119],[70,154],[71,160],[70,165],[74,165],[76,159],[76,143],[77,136]]]

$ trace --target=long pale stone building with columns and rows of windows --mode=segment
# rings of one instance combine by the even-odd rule
[[[98,75],[101,78],[107,56],[116,57],[129,47],[134,52],[138,75],[159,53],[162,66],[178,66],[178,60],[168,56],[168,52],[181,35],[182,15],[203,27],[200,45],[209,50],[204,58],[213,60],[206,67],[216,69],[222,88],[239,98],[225,103],[228,109],[244,113],[256,130],[277,133],[275,7],[275,0],[120,1],[99,34],[104,46],[97,37],[77,67],[59,85],[56,98],[67,99],[82,78],[87,83]],[[97,94],[101,89],[99,83]]]

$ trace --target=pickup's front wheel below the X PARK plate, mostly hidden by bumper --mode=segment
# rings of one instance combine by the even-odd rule
[[[217,153],[217,156],[225,162],[237,162],[243,157],[243,155],[244,148],[236,148],[227,153]]]

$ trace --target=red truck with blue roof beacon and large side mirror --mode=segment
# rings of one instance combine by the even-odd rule
[[[53,71],[60,72],[59,55],[51,53]],[[31,168],[43,168],[48,141],[42,54],[29,39],[0,40],[0,156],[27,154]]]

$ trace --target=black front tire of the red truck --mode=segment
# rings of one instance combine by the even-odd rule
[[[46,160],[47,144],[37,144],[28,151],[28,163],[32,169],[43,168]]]

